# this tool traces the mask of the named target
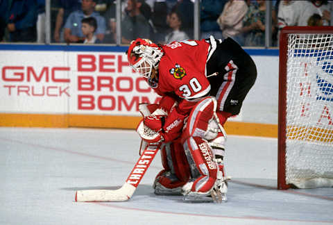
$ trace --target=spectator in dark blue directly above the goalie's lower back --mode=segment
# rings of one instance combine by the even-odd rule
[[[226,0],[203,0],[200,3],[200,31],[201,38],[210,38],[213,35],[216,39],[222,38],[219,24],[216,22]]]

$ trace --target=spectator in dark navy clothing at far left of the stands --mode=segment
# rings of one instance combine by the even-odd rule
[[[9,4],[7,28],[10,42],[36,42],[37,1],[12,0]]]

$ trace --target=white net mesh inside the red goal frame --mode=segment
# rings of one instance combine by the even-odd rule
[[[333,34],[289,34],[286,183],[333,178]]]

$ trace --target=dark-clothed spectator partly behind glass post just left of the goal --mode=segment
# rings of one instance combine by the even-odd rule
[[[251,4],[243,20],[242,32],[244,33],[245,46],[264,46],[265,44],[265,15],[266,1],[258,1]],[[276,24],[275,10],[272,10],[272,29]],[[273,33],[273,32],[272,32]]]

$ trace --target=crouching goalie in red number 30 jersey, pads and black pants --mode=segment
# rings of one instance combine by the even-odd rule
[[[190,201],[227,201],[223,167],[225,124],[237,115],[255,83],[252,58],[231,38],[184,40],[157,45],[138,38],[127,51],[128,62],[162,99],[146,104],[146,142],[163,142],[164,169],[155,194],[183,194]],[[141,107],[141,111],[145,111]],[[146,131],[157,135],[146,138]]]

